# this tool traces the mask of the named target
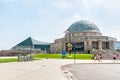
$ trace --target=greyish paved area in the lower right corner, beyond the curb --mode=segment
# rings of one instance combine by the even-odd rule
[[[120,80],[120,64],[75,64],[64,69],[72,73],[72,80]]]

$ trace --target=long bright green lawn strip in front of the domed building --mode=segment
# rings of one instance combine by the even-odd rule
[[[53,58],[53,59],[62,59],[62,54],[35,54],[34,58]],[[91,60],[93,58],[93,54],[75,54],[75,59],[81,60]],[[66,55],[65,59],[74,59],[74,54],[71,56],[69,54]]]

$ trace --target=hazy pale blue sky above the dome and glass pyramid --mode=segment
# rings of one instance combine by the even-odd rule
[[[120,0],[0,0],[0,50],[30,36],[52,43],[79,20],[120,40]]]

